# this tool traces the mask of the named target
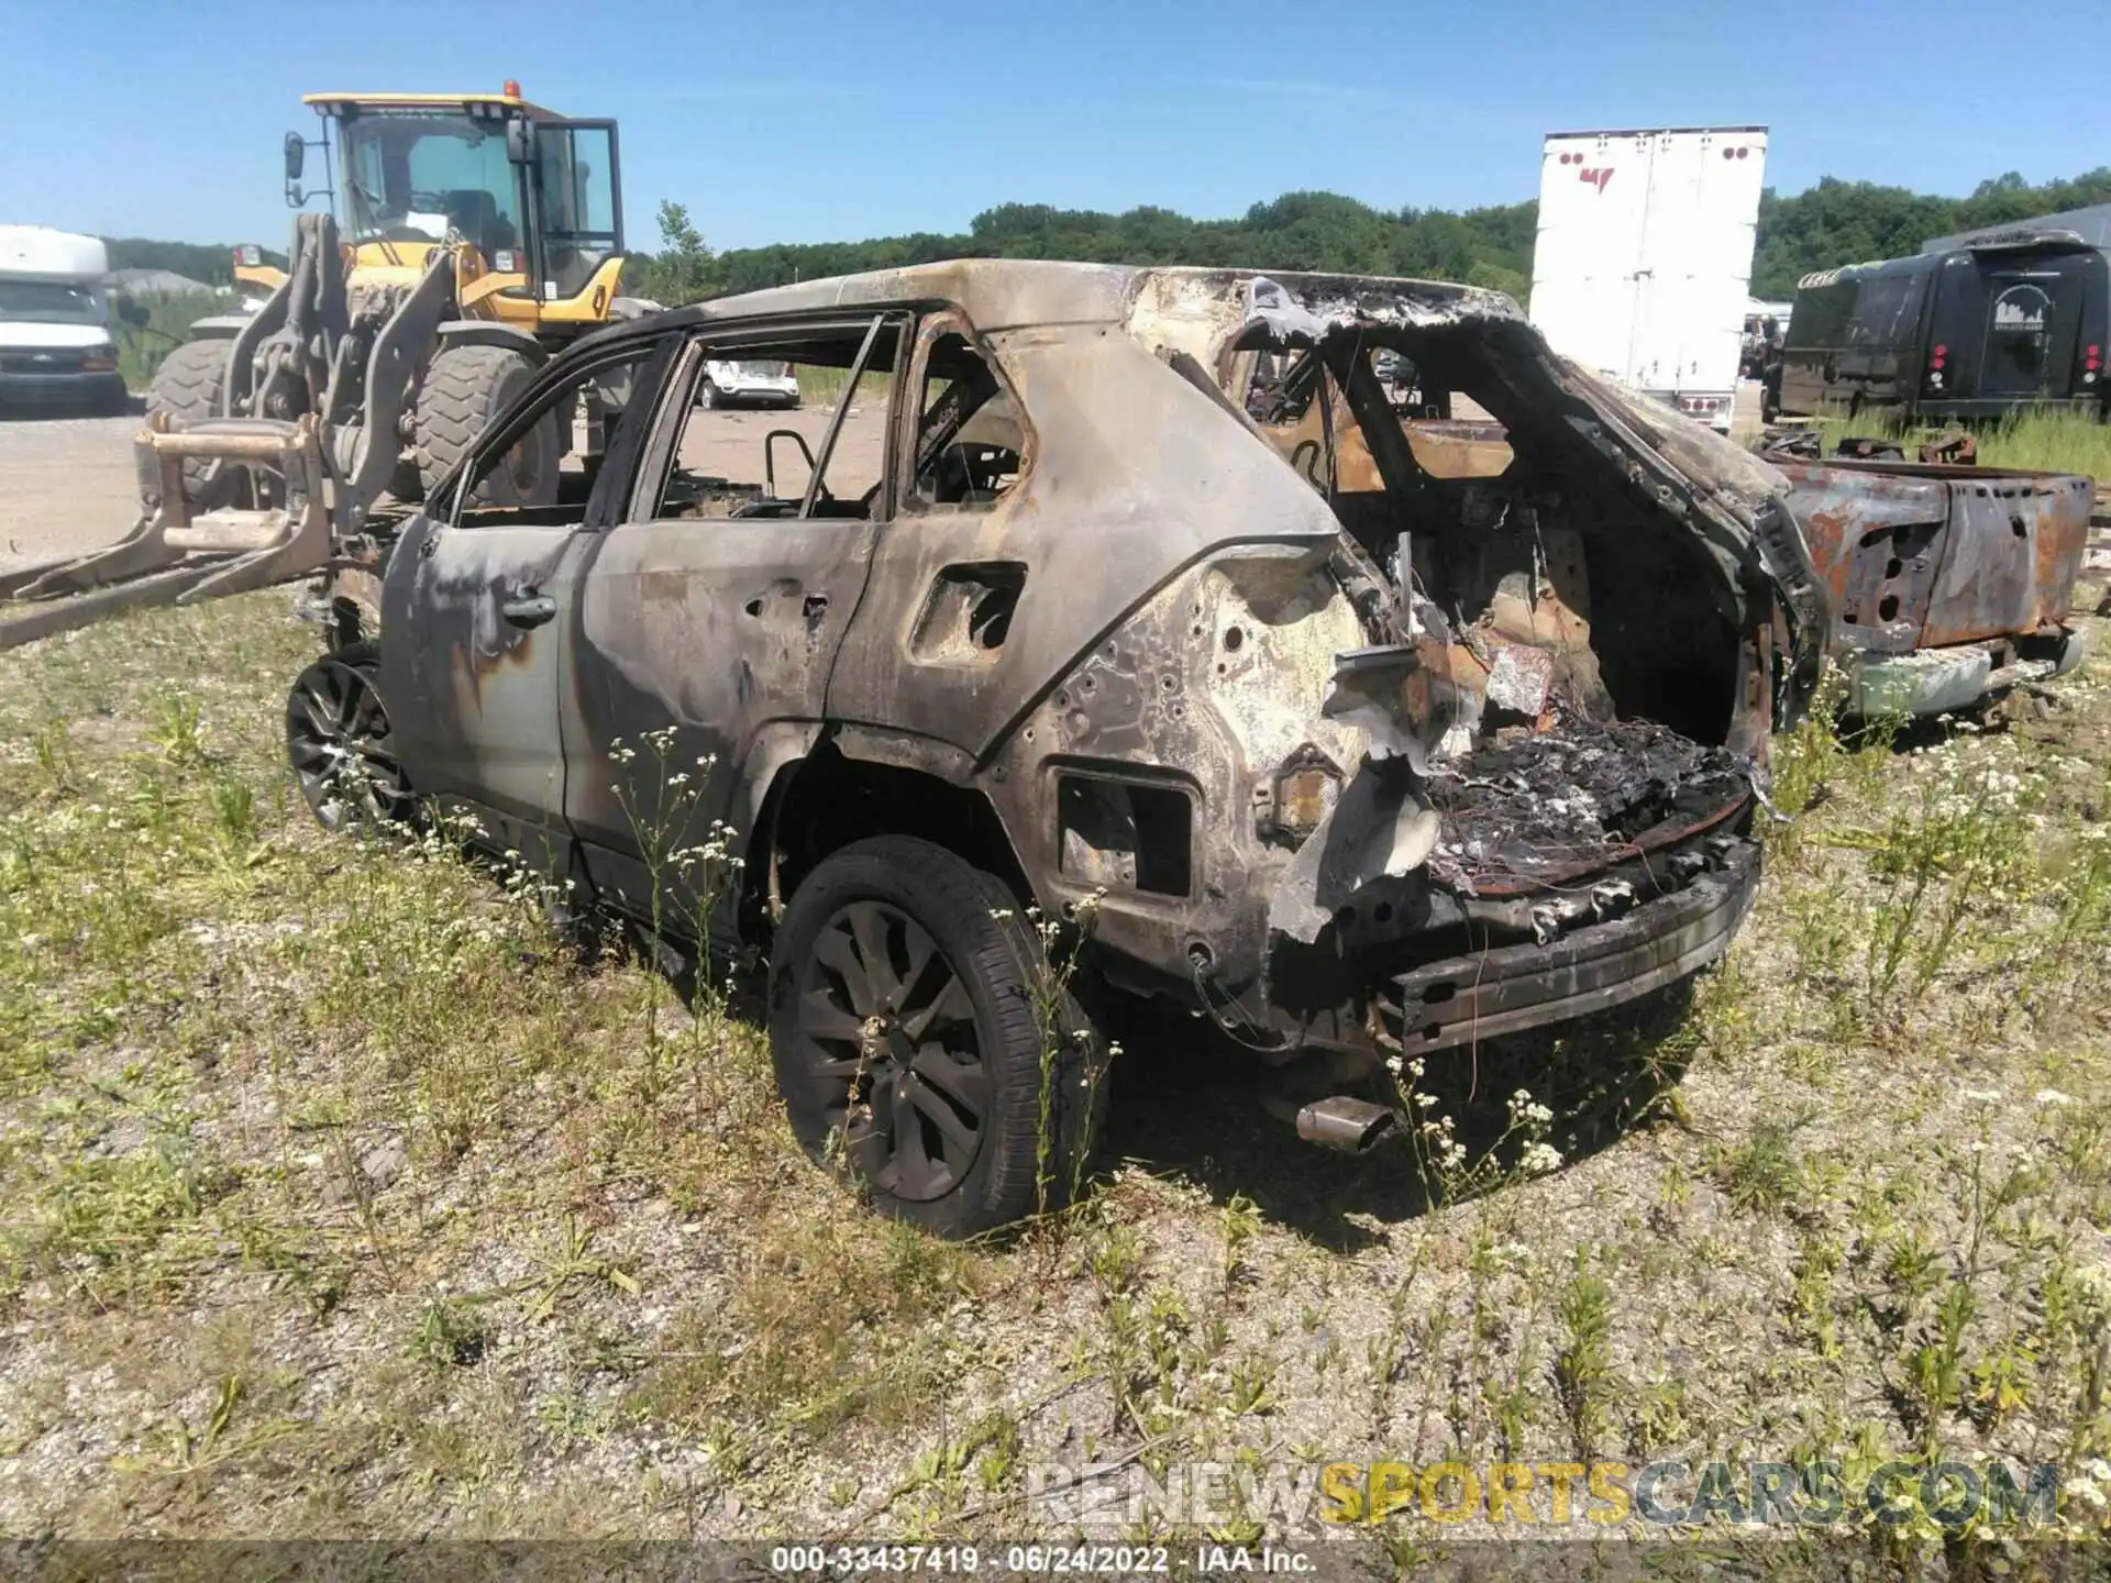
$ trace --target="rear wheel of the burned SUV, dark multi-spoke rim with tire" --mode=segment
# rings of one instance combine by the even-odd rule
[[[880,1214],[973,1237],[1068,1201],[1104,1062],[990,874],[908,836],[828,857],[785,910],[768,1003],[794,1136]]]

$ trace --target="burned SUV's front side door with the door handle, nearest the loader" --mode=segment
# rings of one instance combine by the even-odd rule
[[[481,504],[479,485],[538,424],[570,433],[589,382],[650,397],[657,350],[631,344],[532,384],[471,452],[450,498],[412,519],[382,587],[382,697],[412,787],[471,808],[490,844],[538,863],[564,846],[557,697],[583,530],[606,511],[629,426],[614,422],[597,473],[566,458],[551,504]]]

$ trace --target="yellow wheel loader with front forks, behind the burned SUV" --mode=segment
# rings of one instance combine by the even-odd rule
[[[251,312],[201,321],[146,397],[141,515],[110,549],[0,572],[0,648],[118,610],[374,564],[369,519],[418,507],[566,342],[657,304],[623,295],[616,122],[500,93],[310,93],[285,137],[287,268],[236,251]],[[308,150],[331,186],[302,190]],[[479,488],[557,500],[621,390],[536,431]],[[350,566],[348,566],[350,564]],[[340,612],[344,621],[357,612]]]

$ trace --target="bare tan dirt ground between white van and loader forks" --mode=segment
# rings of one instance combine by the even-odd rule
[[[122,538],[139,513],[139,418],[0,420],[0,568]]]

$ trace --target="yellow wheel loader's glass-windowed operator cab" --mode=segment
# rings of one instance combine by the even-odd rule
[[[610,317],[623,268],[623,182],[612,120],[568,120],[519,97],[355,95],[304,99],[323,118],[319,146],[336,154],[334,207],[357,276],[414,279],[435,247],[460,236],[483,317],[540,336],[589,329]],[[334,148],[331,148],[334,146]],[[302,148],[287,137],[287,198],[300,190]]]

